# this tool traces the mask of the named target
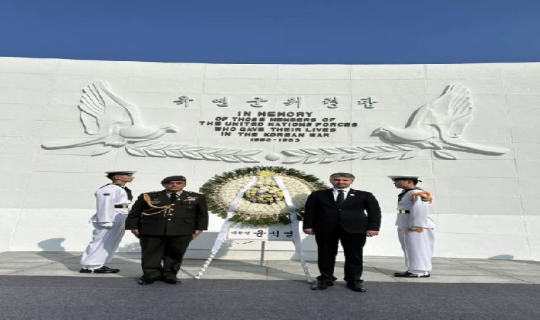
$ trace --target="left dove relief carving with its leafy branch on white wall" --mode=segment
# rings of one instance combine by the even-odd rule
[[[144,124],[135,105],[122,99],[108,82],[99,81],[82,89],[80,98],[80,120],[85,133],[92,139],[63,139],[44,142],[43,149],[68,149],[80,146],[99,145],[92,156],[106,154],[113,147],[125,146],[126,151],[134,156],[173,156],[196,160],[227,162],[259,162],[252,156],[261,150],[240,150],[211,148],[208,146],[188,146],[161,143],[156,139],[167,133],[178,132],[173,124]],[[121,108],[128,117],[115,121],[111,110]],[[131,144],[128,146],[128,144]]]

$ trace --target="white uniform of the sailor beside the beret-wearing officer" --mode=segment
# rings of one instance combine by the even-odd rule
[[[95,269],[111,262],[112,255],[118,249],[124,236],[125,220],[128,208],[114,208],[114,205],[131,205],[127,192],[117,184],[107,184],[96,193],[97,210],[90,222],[94,225],[92,241],[82,254],[80,264],[83,268]],[[105,228],[102,223],[112,223],[112,228]]]

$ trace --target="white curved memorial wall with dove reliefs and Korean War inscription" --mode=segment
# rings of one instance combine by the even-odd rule
[[[0,251],[82,251],[104,171],[138,195],[245,166],[356,175],[383,210],[367,255],[401,255],[387,178],[433,193],[436,256],[540,260],[540,63],[212,65],[0,58]],[[206,258],[222,220],[192,242]],[[260,242],[227,242],[258,259]],[[313,237],[303,235],[306,257]],[[119,248],[138,251],[126,233]],[[291,242],[266,242],[289,259]]]

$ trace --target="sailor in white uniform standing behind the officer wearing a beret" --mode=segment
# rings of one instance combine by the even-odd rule
[[[112,182],[99,188],[96,193],[96,213],[90,218],[94,225],[92,241],[82,254],[80,273],[117,273],[104,265],[112,261],[125,233],[125,220],[133,195],[126,183],[133,181],[136,171],[107,171]]]

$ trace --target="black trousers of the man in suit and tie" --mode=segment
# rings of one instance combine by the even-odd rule
[[[331,233],[315,233],[317,242],[317,264],[320,271],[319,281],[334,282],[335,257],[338,255],[338,242],[341,241],[345,254],[345,281],[357,281],[362,277],[363,250],[366,243],[365,233],[347,233],[338,225]]]

